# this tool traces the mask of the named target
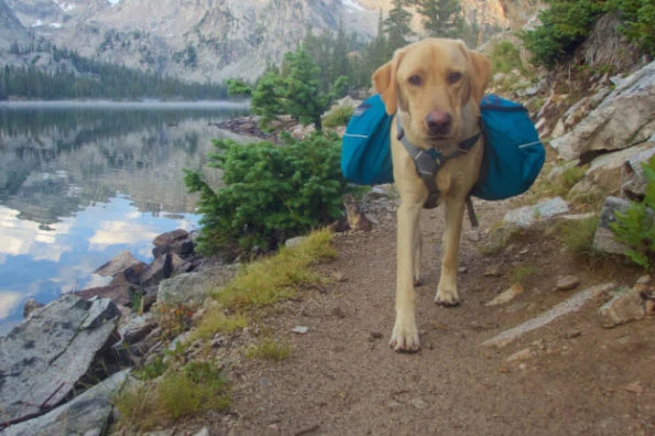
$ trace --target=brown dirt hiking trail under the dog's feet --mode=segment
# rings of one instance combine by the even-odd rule
[[[607,296],[599,295],[504,347],[482,346],[585,288],[609,281],[632,286],[641,275],[615,261],[591,270],[547,230],[528,232],[500,254],[480,254],[476,247],[484,228],[509,207],[478,201],[481,229],[465,222],[462,304],[455,308],[433,302],[443,209],[424,211],[424,284],[417,287],[423,349],[412,355],[387,346],[395,215],[375,216],[371,232],[337,235],[337,259],[319,266],[334,283],[307,290],[258,320],[260,331],[292,344],[292,356],[281,362],[243,360],[233,368],[233,405],[210,434],[654,435],[653,317],[605,329],[597,309]],[[500,272],[485,275],[490,265]],[[511,271],[528,265],[534,271],[523,281],[523,294],[504,305],[484,305],[510,286]],[[580,286],[557,291],[566,274],[576,274]],[[292,333],[296,326],[308,331]]]

